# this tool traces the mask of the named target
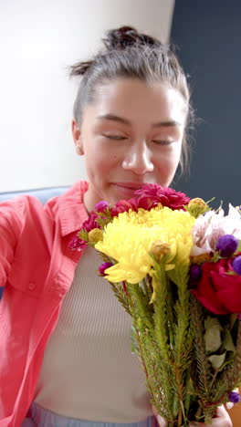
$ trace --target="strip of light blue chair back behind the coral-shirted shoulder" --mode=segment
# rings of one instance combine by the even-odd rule
[[[67,192],[68,188],[69,187],[67,185],[67,186],[61,186],[61,187],[41,188],[37,190],[25,190],[21,192],[0,193],[0,202],[13,199],[14,197],[19,195],[29,194],[29,195],[36,196],[41,203],[45,204],[48,199],[51,199],[52,197],[55,197],[62,193]]]

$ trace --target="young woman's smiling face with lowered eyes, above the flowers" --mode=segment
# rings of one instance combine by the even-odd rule
[[[168,186],[180,161],[185,120],[182,95],[161,83],[120,78],[101,85],[82,123],[72,123],[89,176],[88,211],[100,200],[131,199],[147,182]]]

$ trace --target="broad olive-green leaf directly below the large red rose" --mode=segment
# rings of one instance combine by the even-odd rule
[[[208,318],[204,322],[204,342],[206,351],[217,351],[222,345],[221,330],[223,329],[217,318]]]

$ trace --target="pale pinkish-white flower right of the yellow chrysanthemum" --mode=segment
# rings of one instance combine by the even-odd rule
[[[219,237],[224,234],[233,234],[241,240],[241,216],[230,203],[227,215],[219,209],[218,213],[209,211],[197,218],[192,230],[194,246],[191,255],[214,252]]]

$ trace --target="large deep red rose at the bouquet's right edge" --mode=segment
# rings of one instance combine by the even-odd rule
[[[215,314],[241,313],[241,276],[227,274],[234,271],[233,260],[234,257],[203,264],[202,277],[191,291]]]

